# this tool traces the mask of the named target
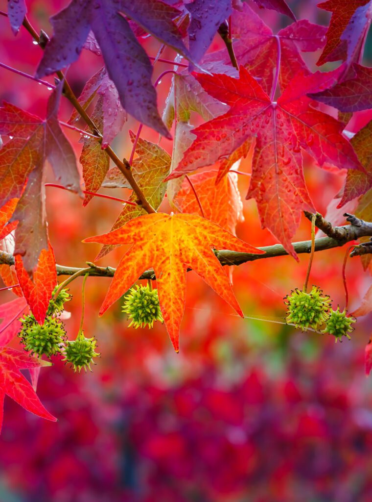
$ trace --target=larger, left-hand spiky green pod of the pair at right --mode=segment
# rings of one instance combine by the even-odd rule
[[[328,320],[331,308],[329,296],[323,296],[319,287],[313,286],[310,293],[298,288],[291,293],[284,298],[288,307],[285,318],[287,324],[294,324],[296,328],[306,331],[308,328],[316,330]]]

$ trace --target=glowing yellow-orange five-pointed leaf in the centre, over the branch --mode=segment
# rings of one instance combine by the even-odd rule
[[[119,263],[100,315],[133,285],[142,272],[151,267],[154,269],[161,313],[176,352],[187,269],[193,269],[242,316],[230,281],[212,248],[263,253],[216,223],[195,214],[146,214],[117,230],[89,237],[83,242],[132,244]]]

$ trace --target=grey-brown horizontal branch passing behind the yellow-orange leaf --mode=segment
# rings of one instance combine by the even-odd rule
[[[360,220],[351,214],[345,213],[347,216],[347,221],[350,221],[350,225],[332,227],[328,226],[328,223],[322,218],[322,221],[317,219],[320,224],[326,224],[327,231],[333,235],[338,235],[339,238],[334,237],[319,237],[315,239],[315,251],[323,251],[325,249],[332,249],[333,247],[340,247],[346,242],[351,240],[356,240],[359,237],[372,237],[372,223]],[[316,222],[315,222],[316,224]],[[324,225],[323,225],[324,226]],[[366,243],[367,244],[367,243]],[[361,246],[362,244],[360,244]],[[294,250],[297,254],[310,253],[311,251],[311,240],[302,240],[298,242],[293,242]],[[364,247],[372,252],[372,247]],[[357,247],[356,249],[358,249]],[[271,246],[263,246],[258,249],[265,251],[265,255],[254,255],[251,253],[237,253],[235,251],[229,251],[223,249],[221,251],[215,250],[215,255],[220,261],[221,265],[242,265],[246,262],[254,262],[255,260],[263,260],[266,258],[276,258],[279,256],[287,256],[288,253],[281,244],[274,244]],[[367,251],[368,252],[368,251]],[[356,256],[359,253],[352,252],[350,256]],[[365,253],[360,253],[365,254]],[[14,265],[13,255],[5,252],[0,252],[0,264]],[[88,268],[84,267],[87,274],[92,277],[113,277],[115,270],[112,267],[98,267],[91,262],[87,262]],[[57,274],[59,276],[72,276],[77,272],[81,271],[83,268],[78,267],[67,267],[64,265],[57,265]],[[190,269],[191,270],[191,269]],[[138,279],[155,279],[153,270],[146,270]]]

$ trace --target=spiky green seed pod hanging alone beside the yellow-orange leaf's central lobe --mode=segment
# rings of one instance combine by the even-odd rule
[[[131,288],[125,296],[123,312],[128,314],[131,320],[129,326],[152,328],[154,321],[163,322],[160,311],[159,297],[156,289],[150,289],[149,285]]]

